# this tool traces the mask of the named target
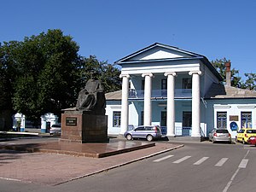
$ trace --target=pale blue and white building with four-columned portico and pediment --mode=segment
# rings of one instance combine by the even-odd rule
[[[214,127],[236,137],[237,129],[256,127],[255,91],[231,87],[230,79],[222,84],[204,55],[156,43],[116,64],[122,90],[106,94],[108,134],[122,135],[129,125],[160,125],[167,137],[207,137]]]

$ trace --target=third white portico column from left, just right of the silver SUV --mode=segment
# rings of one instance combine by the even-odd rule
[[[167,136],[175,136],[175,102],[174,102],[174,87],[176,73],[165,73],[167,76]]]

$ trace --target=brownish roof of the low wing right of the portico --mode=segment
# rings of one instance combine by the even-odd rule
[[[232,86],[226,86],[224,84],[212,84],[207,91],[205,99],[226,99],[226,98],[255,98],[256,91],[244,90]]]

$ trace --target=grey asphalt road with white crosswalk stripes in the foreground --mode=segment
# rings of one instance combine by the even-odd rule
[[[208,142],[184,145],[165,154],[57,186],[0,179],[0,191],[255,191],[256,147]]]

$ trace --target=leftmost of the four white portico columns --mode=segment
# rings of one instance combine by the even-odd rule
[[[125,131],[128,130],[128,122],[129,122],[129,74],[120,74],[120,78],[122,78],[122,109],[121,109],[121,132],[120,134],[124,134]]]

